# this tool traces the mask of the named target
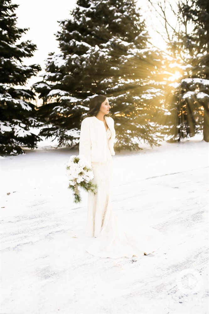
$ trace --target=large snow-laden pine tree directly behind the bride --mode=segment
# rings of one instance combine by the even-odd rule
[[[139,149],[139,141],[159,145],[163,99],[162,56],[132,0],[78,0],[72,18],[60,21],[61,53],[50,53],[43,82],[33,85],[43,99],[40,135],[56,135],[59,145],[78,143],[82,117],[94,94],[109,98],[115,120],[115,149]]]

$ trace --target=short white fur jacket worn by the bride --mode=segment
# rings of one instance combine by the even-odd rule
[[[115,155],[114,120],[110,116],[105,116],[105,120],[112,133],[109,140],[110,153],[111,155]],[[104,162],[107,160],[107,138],[105,124],[95,116],[87,117],[81,122],[79,154],[84,155],[90,164],[92,161]]]

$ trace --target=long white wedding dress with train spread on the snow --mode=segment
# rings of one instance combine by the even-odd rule
[[[92,162],[93,183],[97,194],[88,192],[88,213],[85,235],[94,237],[86,251],[98,257],[143,256],[156,251],[163,244],[162,234],[144,227],[136,220],[121,225],[111,207],[112,155],[108,146],[111,131],[106,131],[107,161]],[[127,220],[126,220],[127,221]]]

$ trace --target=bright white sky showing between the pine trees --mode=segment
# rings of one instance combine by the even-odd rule
[[[76,0],[12,0],[12,3],[19,5],[15,11],[18,17],[17,26],[29,28],[22,40],[31,40],[38,48],[34,57],[25,59],[24,64],[38,63],[44,68],[48,53],[59,52],[58,41],[54,35],[59,30],[57,21],[69,17],[70,11],[76,5]],[[172,0],[172,3],[175,3],[175,0]],[[147,29],[153,44],[158,48],[166,49],[161,36],[152,30],[153,27],[160,30],[162,25],[156,14],[151,13],[148,0],[137,1],[137,6],[141,7],[142,16],[146,19]],[[40,77],[33,77],[28,81],[28,85],[41,80]]]

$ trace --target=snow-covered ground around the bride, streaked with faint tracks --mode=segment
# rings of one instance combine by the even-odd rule
[[[1,158],[1,313],[208,313],[208,143],[196,136],[113,156],[112,208],[163,233],[143,257],[95,257],[87,194],[72,203],[78,150]],[[10,193],[10,194],[9,194]]]

